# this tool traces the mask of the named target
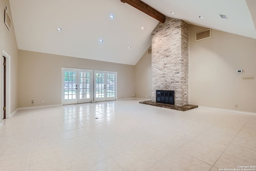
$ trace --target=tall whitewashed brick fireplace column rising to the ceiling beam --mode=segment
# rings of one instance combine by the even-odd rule
[[[156,90],[174,90],[175,105],[188,104],[188,24],[168,18],[152,32],[152,101]]]

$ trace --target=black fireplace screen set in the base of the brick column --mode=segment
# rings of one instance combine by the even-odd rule
[[[174,91],[156,90],[156,102],[174,105]]]

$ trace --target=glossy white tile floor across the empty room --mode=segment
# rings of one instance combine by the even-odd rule
[[[256,115],[182,112],[138,101],[18,110],[0,126],[0,170],[218,171],[256,165]]]

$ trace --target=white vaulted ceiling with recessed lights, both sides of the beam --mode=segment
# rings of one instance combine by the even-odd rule
[[[135,65],[150,47],[151,32],[158,24],[120,0],[9,1],[20,50]],[[256,38],[256,0],[142,1],[189,24]]]

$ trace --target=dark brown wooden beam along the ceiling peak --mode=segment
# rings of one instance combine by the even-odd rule
[[[144,2],[140,0],[121,0],[123,3],[127,3],[130,6],[133,6],[134,8],[137,8],[138,10],[144,12],[145,14],[148,14],[149,16],[155,18],[156,20],[164,23],[165,22],[165,16],[164,14],[158,12],[151,6],[148,6]]]

